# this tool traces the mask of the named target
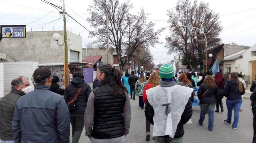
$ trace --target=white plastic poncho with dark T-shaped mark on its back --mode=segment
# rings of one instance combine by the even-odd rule
[[[185,106],[194,89],[174,85],[171,87],[156,86],[146,90],[149,104],[154,108],[153,136],[169,135],[174,137],[177,125]],[[169,113],[166,115],[166,106],[169,104]]]

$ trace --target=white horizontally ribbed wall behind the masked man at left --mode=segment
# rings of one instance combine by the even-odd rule
[[[6,62],[4,65],[4,91],[11,91],[11,82],[17,76],[29,78],[30,85],[34,88],[31,77],[36,68],[37,62]]]

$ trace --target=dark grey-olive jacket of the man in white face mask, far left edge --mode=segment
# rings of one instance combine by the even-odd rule
[[[12,136],[12,118],[15,105],[18,99],[25,93],[16,90],[12,87],[9,94],[0,100],[0,139],[13,140]]]

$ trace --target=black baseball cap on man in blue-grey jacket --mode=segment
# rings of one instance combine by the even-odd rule
[[[33,77],[35,81],[45,80],[49,78],[51,75],[52,75],[51,71],[46,67],[39,67],[33,73]]]

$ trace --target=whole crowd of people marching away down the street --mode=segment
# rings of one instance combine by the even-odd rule
[[[34,71],[33,91],[28,78],[14,78],[11,92],[0,100],[1,142],[69,143],[71,124],[72,143],[78,143],[83,128],[92,143],[124,143],[132,118],[130,100],[138,97],[140,109],[145,105],[145,140],[150,141],[150,125],[153,124],[155,143],[182,143],[183,125],[191,121],[197,86],[201,109],[198,124],[202,126],[208,114],[208,130],[213,130],[214,112],[224,111],[222,99],[225,96],[227,118],[223,122],[232,124],[232,129],[238,128],[245,94],[241,74],[230,73],[225,79],[220,72],[214,77],[206,72],[198,81],[195,72],[175,75],[173,66],[167,63],[156,72],[140,71],[135,75],[132,71],[124,77],[110,64],[100,64],[96,73],[93,90],[79,72],[73,74],[65,90],[59,87],[59,77],[46,67]],[[130,85],[130,95],[124,86],[125,78]],[[256,82],[250,88],[253,92],[250,97],[254,116],[253,143],[256,143],[255,87]]]

